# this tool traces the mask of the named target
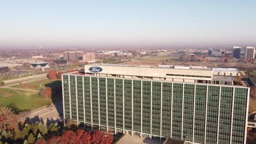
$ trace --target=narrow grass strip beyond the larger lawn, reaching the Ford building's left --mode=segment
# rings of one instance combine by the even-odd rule
[[[42,87],[45,87],[55,81],[61,81],[61,80],[49,80],[49,79],[45,79],[45,80],[38,80],[38,81],[32,81],[32,82],[27,82],[27,83],[22,83],[21,85],[14,85],[11,87],[15,87],[15,88],[25,88],[25,89],[35,89],[40,91],[42,89]],[[41,86],[42,87],[41,87]]]

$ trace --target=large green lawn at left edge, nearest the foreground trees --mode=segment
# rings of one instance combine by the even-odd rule
[[[19,94],[18,92],[22,94]],[[32,110],[53,103],[52,100],[40,99],[38,93],[32,93],[27,91],[18,92],[7,88],[1,88],[0,105],[9,105],[11,103],[14,103],[21,110]]]

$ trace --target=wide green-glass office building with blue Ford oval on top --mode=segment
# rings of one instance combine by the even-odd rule
[[[90,64],[62,75],[64,119],[114,133],[246,143],[249,88],[237,69]]]

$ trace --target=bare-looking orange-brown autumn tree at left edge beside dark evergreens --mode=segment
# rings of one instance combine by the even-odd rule
[[[15,130],[18,125],[17,115],[14,114],[8,107],[0,107],[0,129],[4,130]]]

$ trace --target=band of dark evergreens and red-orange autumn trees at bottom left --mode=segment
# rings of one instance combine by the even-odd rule
[[[1,143],[106,143],[114,140],[113,135],[102,131],[85,131],[71,124],[21,123],[9,107],[0,107],[0,144]]]

